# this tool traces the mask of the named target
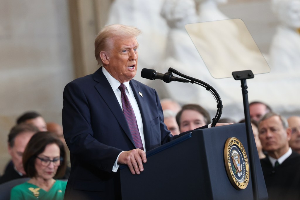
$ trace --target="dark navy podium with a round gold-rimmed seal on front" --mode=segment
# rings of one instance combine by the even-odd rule
[[[251,176],[244,189],[236,189],[226,170],[224,151],[227,139],[232,137],[242,143],[248,156],[245,123],[238,123],[193,130],[146,152],[147,162],[139,175],[121,166],[122,199],[252,200]],[[251,148],[256,150],[255,145]],[[257,151],[254,161],[258,198],[268,199]]]

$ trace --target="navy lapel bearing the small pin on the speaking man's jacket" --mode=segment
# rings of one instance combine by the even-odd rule
[[[140,87],[138,86],[137,82],[135,82],[134,80],[130,81],[130,86],[132,88],[132,91],[134,93],[134,98],[137,100],[137,105],[139,106],[140,109],[140,113],[141,113],[141,117],[142,117],[142,122],[143,122],[143,132],[144,132],[144,139],[145,139],[145,147],[147,151],[150,147],[150,127],[149,127],[149,123],[147,123],[149,121],[149,119],[147,118],[147,116],[149,116],[147,114],[146,109],[144,108],[144,105],[147,105],[148,102],[146,102],[146,97],[143,97],[143,91],[140,89]]]

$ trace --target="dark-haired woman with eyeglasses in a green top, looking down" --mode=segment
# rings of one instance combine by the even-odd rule
[[[23,165],[30,179],[13,187],[10,199],[63,200],[67,182],[54,178],[64,175],[66,152],[56,135],[50,132],[33,135],[23,153]]]

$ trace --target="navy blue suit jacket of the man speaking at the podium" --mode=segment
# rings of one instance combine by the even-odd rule
[[[164,124],[155,89],[136,80],[130,86],[142,116],[146,151],[176,138]],[[118,172],[112,168],[121,151],[136,147],[102,69],[68,83],[63,105],[63,131],[71,153],[65,199],[120,198]]]

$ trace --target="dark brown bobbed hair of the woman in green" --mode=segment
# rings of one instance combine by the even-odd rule
[[[61,164],[57,168],[54,178],[60,178],[64,176],[67,167],[64,144],[54,133],[38,132],[29,140],[23,153],[23,166],[28,177],[32,178],[37,175],[37,171],[35,169],[36,157],[44,152],[48,144],[57,144],[60,150],[60,156],[63,158]]]

